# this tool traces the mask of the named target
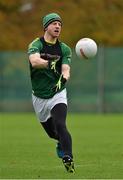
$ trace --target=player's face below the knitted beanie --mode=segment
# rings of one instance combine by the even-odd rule
[[[61,23],[59,21],[54,21],[47,27],[47,32],[53,37],[59,37],[61,33]]]

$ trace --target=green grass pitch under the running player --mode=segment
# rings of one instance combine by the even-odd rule
[[[1,179],[123,179],[123,115],[69,114],[75,174],[34,114],[0,114]]]

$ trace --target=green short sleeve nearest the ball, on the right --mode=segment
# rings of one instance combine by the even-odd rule
[[[71,58],[72,58],[72,50],[69,46],[67,46],[65,43],[61,43],[61,49],[62,49],[62,64],[71,64]]]

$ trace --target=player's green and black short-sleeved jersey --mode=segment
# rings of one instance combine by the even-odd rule
[[[63,42],[56,41],[55,44],[47,43],[44,38],[35,39],[28,48],[28,54],[40,53],[43,59],[56,60],[54,69],[33,68],[30,63],[30,76],[32,83],[32,92],[35,96],[49,99],[52,98],[57,92],[54,87],[58,82],[61,75],[61,65],[71,63],[72,51],[69,46]],[[62,84],[61,90],[65,88]]]

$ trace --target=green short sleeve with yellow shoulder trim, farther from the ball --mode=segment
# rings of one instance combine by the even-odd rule
[[[42,48],[42,44],[39,38],[36,38],[32,43],[29,44],[28,46],[28,55],[30,54],[35,54],[35,53],[40,53]]]

